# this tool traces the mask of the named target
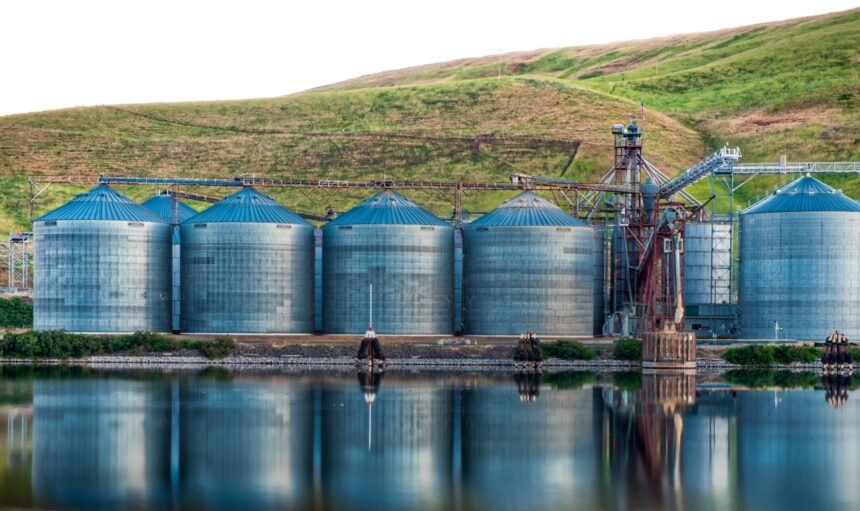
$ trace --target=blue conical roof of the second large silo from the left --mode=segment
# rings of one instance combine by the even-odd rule
[[[243,188],[183,223],[188,222],[311,225],[304,218],[253,188]]]

